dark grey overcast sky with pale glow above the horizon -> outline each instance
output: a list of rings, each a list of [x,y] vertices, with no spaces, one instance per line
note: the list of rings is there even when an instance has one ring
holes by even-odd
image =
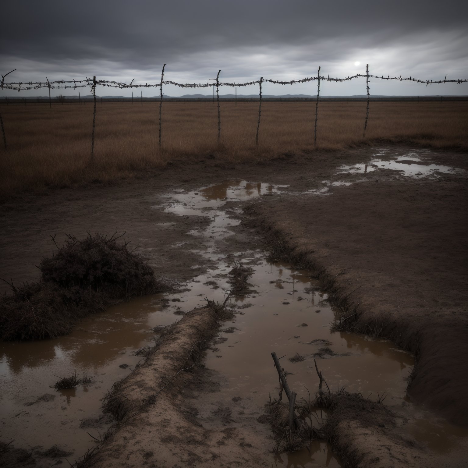
[[[2,74],[17,69],[9,81],[96,75],[155,83],[165,63],[165,80],[206,83],[219,69],[221,81],[296,80],[316,75],[319,66],[324,76],[365,73],[369,63],[375,75],[465,79],[467,5],[461,0],[17,0],[2,5],[0,68]],[[468,95],[468,83],[426,87],[371,80],[370,88],[371,95]],[[80,92],[89,94],[89,88]],[[163,92],[212,91],[165,86]],[[317,83],[264,84],[263,92],[314,95]],[[238,95],[255,93],[258,85],[237,89]],[[97,94],[131,95],[131,90],[98,88]],[[366,81],[322,82],[321,94],[363,95]],[[47,95],[47,89],[20,95]],[[143,89],[143,95],[159,95],[159,89]]]

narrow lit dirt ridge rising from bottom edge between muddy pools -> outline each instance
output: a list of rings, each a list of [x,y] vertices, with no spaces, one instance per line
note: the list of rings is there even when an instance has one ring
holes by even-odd
[[[80,466],[140,467],[155,460],[159,466],[231,467],[240,461],[261,465],[258,448],[241,443],[246,434],[236,437],[231,428],[208,430],[185,404],[190,384],[206,383],[200,358],[219,328],[218,321],[229,316],[226,309],[209,301],[208,307],[185,314],[166,329],[149,348],[146,362],[108,395],[104,409],[113,414],[117,425]]]

